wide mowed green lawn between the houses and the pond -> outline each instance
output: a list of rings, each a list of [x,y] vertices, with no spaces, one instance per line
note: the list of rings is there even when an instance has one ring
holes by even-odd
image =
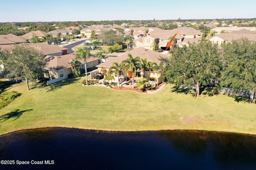
[[[198,129],[256,134],[256,105],[219,94],[194,98],[168,84],[156,94],[82,86],[82,78],[26,90],[0,109],[0,134],[39,127],[108,131]],[[32,85],[30,85],[32,87]]]

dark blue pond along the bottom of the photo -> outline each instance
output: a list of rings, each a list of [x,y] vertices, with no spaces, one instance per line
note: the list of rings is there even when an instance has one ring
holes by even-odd
[[[0,136],[0,160],[0,169],[256,169],[256,136],[31,129]]]

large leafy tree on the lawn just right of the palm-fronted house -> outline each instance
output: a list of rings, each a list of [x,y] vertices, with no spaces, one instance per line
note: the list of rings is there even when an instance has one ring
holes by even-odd
[[[200,97],[199,87],[209,84],[220,73],[220,60],[217,45],[210,41],[200,44],[189,43],[189,46],[174,48],[170,51],[170,59],[160,58],[163,79],[191,86],[196,84],[196,97]]]

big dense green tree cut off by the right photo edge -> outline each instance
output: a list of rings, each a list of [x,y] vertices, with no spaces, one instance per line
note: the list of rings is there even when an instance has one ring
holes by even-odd
[[[222,86],[250,91],[250,103],[256,91],[256,43],[248,39],[223,44]]]

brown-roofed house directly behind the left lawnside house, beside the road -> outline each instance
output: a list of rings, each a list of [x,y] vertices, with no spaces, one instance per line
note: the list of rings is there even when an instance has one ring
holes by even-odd
[[[68,54],[68,49],[64,47],[59,47],[58,45],[50,45],[46,42],[43,43],[32,43],[32,47],[42,51],[44,55],[55,55],[61,56]]]

